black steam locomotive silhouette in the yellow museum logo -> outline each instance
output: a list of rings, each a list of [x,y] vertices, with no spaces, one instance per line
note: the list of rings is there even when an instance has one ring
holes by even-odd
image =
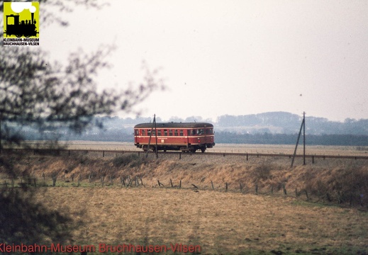
[[[35,26],[36,21],[34,19],[34,13],[30,13],[30,20],[19,21],[21,16],[18,15],[6,15],[6,37],[16,35],[17,38],[25,36],[37,36],[38,31]]]

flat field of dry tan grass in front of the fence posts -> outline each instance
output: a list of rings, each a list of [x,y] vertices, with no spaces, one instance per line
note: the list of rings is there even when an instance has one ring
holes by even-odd
[[[82,220],[72,233],[79,244],[195,244],[203,254],[368,251],[367,212],[290,197],[79,187],[48,188],[37,200]]]

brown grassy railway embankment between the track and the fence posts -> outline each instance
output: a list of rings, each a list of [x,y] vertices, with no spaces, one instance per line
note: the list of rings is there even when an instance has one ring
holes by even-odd
[[[1,185],[193,188],[294,196],[368,208],[364,159],[318,159],[290,167],[286,157],[123,154],[117,157],[2,155]],[[9,175],[10,173],[10,175]],[[9,176],[13,178],[9,179]],[[55,182],[53,182],[54,180]]]

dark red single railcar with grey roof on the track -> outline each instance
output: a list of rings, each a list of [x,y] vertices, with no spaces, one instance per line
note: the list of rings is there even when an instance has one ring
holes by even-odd
[[[157,136],[156,136],[157,135]],[[182,152],[205,152],[215,146],[211,123],[142,123],[134,127],[134,145],[157,151],[181,150]],[[148,144],[150,143],[150,147]]]

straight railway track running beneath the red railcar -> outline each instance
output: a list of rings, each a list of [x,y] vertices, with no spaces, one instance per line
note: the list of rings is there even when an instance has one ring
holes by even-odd
[[[140,150],[116,150],[116,149],[2,149],[1,154],[7,153],[21,153],[26,152],[28,154],[67,154],[68,156],[75,154],[75,153],[101,153],[102,157],[105,157],[107,154],[138,154],[138,155],[145,155],[146,152]],[[149,152],[149,154],[155,154],[155,152]],[[157,157],[160,154],[177,154],[179,158],[182,155],[192,155],[194,157],[199,157],[201,155],[206,156],[241,156],[248,159],[249,157],[289,157],[292,158],[293,154],[284,154],[284,153],[247,153],[247,152],[158,152]],[[303,154],[296,154],[295,157],[304,157]],[[306,154],[306,158],[309,159],[368,159],[368,156],[354,156],[354,155],[322,155],[322,154]]]

